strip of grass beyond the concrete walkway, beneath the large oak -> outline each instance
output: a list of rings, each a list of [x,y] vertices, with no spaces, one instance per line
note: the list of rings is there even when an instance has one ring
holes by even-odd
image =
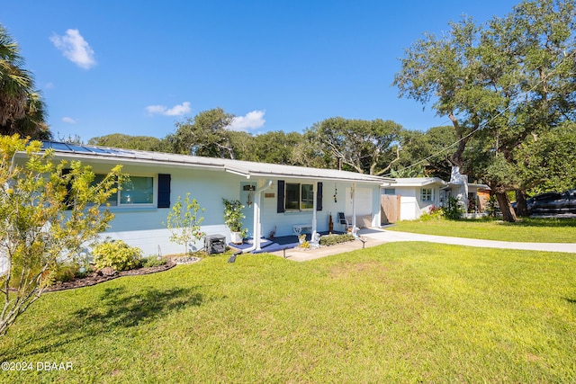
[[[386,229],[425,235],[534,243],[576,243],[576,219],[407,220]]]

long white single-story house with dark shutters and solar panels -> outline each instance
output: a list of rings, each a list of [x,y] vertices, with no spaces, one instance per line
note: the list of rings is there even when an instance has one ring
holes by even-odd
[[[184,199],[186,192],[204,209],[202,232],[225,236],[227,242],[230,231],[224,225],[222,198],[241,201],[244,227],[255,238],[257,249],[258,239],[273,231],[276,237],[293,235],[299,226],[311,232],[328,231],[330,215],[334,230],[344,230],[338,212],[345,212],[355,226],[360,220],[368,227],[381,223],[380,186],[388,180],[383,177],[51,141],[43,144],[54,150],[55,160],[82,161],[92,165],[95,174],[106,174],[113,165],[123,166],[130,184],[110,201],[115,218],[103,237],[139,246],[145,255],[182,252],[182,246],[169,241],[170,232],[162,223],[178,196]],[[16,161],[24,162],[25,154],[17,154]],[[201,249],[203,240],[192,246]]]

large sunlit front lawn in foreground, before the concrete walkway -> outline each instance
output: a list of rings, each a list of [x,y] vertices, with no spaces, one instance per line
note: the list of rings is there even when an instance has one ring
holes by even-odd
[[[570,382],[574,255],[392,243],[294,263],[218,255],[49,293],[3,382]]]

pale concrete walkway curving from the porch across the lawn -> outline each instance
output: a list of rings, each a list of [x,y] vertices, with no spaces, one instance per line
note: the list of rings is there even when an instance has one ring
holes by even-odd
[[[426,241],[429,243],[451,244],[455,246],[478,246],[482,248],[520,249],[527,251],[565,252],[576,254],[576,243],[518,243],[509,241],[479,240],[464,237],[420,235],[377,228],[361,229],[358,234],[363,238],[365,241],[364,243],[360,240],[356,240],[339,244],[338,246],[322,246],[307,251],[293,248],[286,249],[285,251],[274,252],[273,255],[280,255],[296,262],[304,262],[329,255],[351,252],[363,247],[380,246],[395,241]]]

